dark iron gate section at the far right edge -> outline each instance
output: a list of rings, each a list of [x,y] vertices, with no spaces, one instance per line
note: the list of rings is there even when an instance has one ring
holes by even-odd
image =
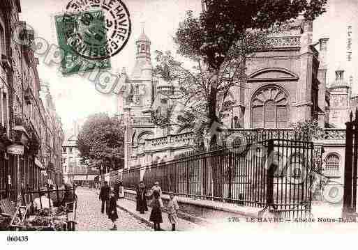
[[[343,217],[357,212],[358,109],[355,120],[351,112],[350,121],[345,125]]]

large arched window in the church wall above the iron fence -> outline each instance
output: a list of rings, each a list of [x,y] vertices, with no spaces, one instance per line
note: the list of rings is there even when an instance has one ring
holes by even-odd
[[[276,86],[264,86],[251,102],[251,127],[288,127],[288,95]]]

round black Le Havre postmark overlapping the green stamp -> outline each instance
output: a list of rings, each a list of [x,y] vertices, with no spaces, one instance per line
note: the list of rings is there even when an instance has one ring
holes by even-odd
[[[103,20],[84,15],[94,9],[103,10]],[[66,12],[78,17],[77,26],[73,33],[68,32],[68,36],[78,42],[80,46],[75,47],[74,51],[83,58],[110,58],[126,46],[131,24],[128,9],[121,0],[71,0]],[[107,33],[106,40],[103,40],[104,33]]]

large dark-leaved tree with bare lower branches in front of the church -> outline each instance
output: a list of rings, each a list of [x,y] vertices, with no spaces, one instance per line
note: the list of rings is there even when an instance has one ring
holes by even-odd
[[[246,61],[271,47],[269,34],[285,29],[302,15],[313,20],[325,12],[327,0],[203,0],[195,17],[188,11],[174,36],[177,53],[195,63],[188,69],[170,52],[158,52],[156,74],[179,84],[172,107],[157,111],[154,120],[163,127],[196,126],[209,132],[220,124],[232,102],[230,88],[244,81]],[[178,110],[178,107],[179,110]],[[173,118],[173,114],[179,116]],[[211,138],[211,136],[210,136]]]

